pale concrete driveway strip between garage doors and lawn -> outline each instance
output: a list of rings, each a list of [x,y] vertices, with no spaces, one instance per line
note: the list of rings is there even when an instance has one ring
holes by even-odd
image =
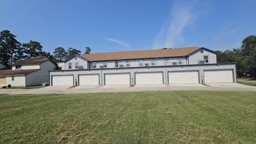
[[[214,91],[256,91],[255,86],[237,83],[218,84],[152,84],[152,85],[110,85],[110,86],[48,86],[39,89],[0,89],[0,94],[77,94],[98,92],[140,92],[168,90],[214,90]]]

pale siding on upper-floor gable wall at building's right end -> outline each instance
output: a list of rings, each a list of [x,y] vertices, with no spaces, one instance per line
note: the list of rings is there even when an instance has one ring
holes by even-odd
[[[198,50],[194,52],[193,54],[190,54],[188,62],[189,64],[198,64],[198,60],[204,60],[204,56],[208,55],[209,56],[209,63],[207,64],[216,64],[217,59],[216,59],[216,54],[213,52],[210,52],[208,50],[203,50],[203,53],[201,53],[201,50]],[[206,64],[206,63],[205,63]]]

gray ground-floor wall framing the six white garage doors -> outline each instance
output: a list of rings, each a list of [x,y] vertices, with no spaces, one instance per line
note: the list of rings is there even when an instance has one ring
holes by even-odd
[[[181,66],[152,66],[152,67],[136,67],[136,68],[108,68],[108,69],[90,69],[90,70],[57,70],[50,72],[50,85],[52,75],[74,75],[74,82],[78,80],[79,74],[99,74],[100,76],[100,85],[104,85],[104,75],[113,74],[113,73],[130,73],[130,84],[135,82],[135,73],[136,72],[163,72],[163,83],[168,84],[168,72],[172,71],[190,71],[196,70],[199,71],[199,81],[200,83],[204,80],[204,70],[224,70],[231,69],[234,74],[234,82],[236,82],[236,65],[233,63],[228,64],[200,64],[200,65],[183,65]],[[75,83],[74,83],[75,85]]]

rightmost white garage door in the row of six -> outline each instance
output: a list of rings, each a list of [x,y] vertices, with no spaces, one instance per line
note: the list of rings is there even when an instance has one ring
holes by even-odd
[[[233,82],[232,70],[206,70],[204,71],[204,83]]]

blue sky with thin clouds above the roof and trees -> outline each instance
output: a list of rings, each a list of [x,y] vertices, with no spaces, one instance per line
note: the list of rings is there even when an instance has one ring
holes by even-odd
[[[0,0],[0,31],[46,52],[206,47],[231,50],[256,34],[256,0]]]

